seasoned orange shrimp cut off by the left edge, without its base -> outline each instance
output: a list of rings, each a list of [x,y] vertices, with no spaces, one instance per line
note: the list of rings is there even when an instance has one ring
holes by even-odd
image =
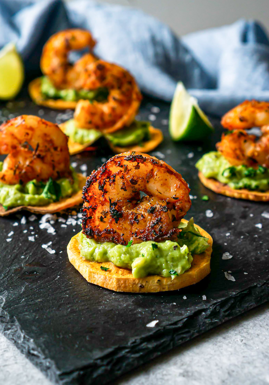
[[[0,126],[0,154],[8,154],[0,172],[4,184],[71,177],[67,137],[37,116],[21,115]]]

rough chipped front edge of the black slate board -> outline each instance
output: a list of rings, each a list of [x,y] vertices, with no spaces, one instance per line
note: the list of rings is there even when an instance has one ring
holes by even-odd
[[[229,298],[218,301],[209,306],[208,309],[199,309],[192,315],[180,320],[176,325],[166,325],[163,329],[156,330],[156,333],[148,337],[138,338],[129,345],[117,348],[109,355],[101,357],[90,365],[68,373],[60,373],[55,364],[38,350],[32,338],[25,335],[20,329],[15,317],[10,319],[8,313],[3,310],[3,304],[0,306],[0,332],[11,340],[20,352],[38,367],[51,382],[65,385],[101,385],[115,380],[195,336],[205,333],[267,301],[269,301],[269,281],[264,281],[259,285],[250,286]],[[244,305],[246,302],[247,305]],[[240,307],[241,303],[243,303],[242,307]],[[220,311],[223,314],[224,310],[227,312],[227,316],[220,319],[218,315]],[[210,323],[205,322],[206,318],[210,318]],[[196,332],[190,331],[191,328],[194,330],[191,327],[193,323],[196,325]],[[199,326],[203,324],[206,326]],[[199,332],[197,332],[198,330]],[[154,352],[154,349],[158,349],[158,351]],[[133,355],[136,357],[133,357]]]

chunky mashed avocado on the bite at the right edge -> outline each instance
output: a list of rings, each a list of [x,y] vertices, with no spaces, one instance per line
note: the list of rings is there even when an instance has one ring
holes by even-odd
[[[269,190],[269,169],[232,166],[224,156],[217,151],[208,152],[196,163],[196,167],[206,178],[217,179],[232,189],[247,189],[255,191]]]

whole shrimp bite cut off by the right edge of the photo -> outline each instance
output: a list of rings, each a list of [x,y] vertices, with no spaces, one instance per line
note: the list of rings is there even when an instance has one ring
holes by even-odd
[[[225,114],[218,151],[197,163],[204,186],[223,195],[269,201],[269,102],[246,100]],[[260,136],[247,133],[260,128]]]

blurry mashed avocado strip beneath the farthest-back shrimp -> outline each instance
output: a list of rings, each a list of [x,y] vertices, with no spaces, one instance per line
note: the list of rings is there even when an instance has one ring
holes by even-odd
[[[108,90],[106,88],[98,88],[91,91],[83,89],[57,89],[46,76],[42,77],[41,93],[44,99],[63,99],[69,102],[75,102],[79,99],[97,100],[98,102],[102,102],[108,97]]]

